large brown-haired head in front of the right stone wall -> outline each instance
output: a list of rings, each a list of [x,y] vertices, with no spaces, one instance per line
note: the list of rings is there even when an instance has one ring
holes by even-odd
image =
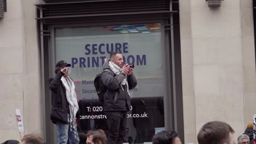
[[[234,144],[234,133],[227,123],[208,122],[200,129],[197,141],[199,144]]]

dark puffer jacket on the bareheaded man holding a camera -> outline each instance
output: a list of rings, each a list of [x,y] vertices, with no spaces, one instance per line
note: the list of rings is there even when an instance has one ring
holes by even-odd
[[[127,86],[123,85],[124,90],[121,87],[121,82],[125,79],[125,75],[122,73],[115,75],[109,68],[109,64],[105,63],[101,79],[107,87],[107,91],[104,94],[104,111],[129,111],[131,109],[131,101]],[[133,74],[127,76],[127,81],[129,89],[137,86],[137,80]]]

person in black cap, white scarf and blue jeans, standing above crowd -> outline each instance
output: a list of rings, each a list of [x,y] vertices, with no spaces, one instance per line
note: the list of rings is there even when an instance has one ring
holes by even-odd
[[[78,111],[77,94],[75,86],[69,75],[69,67],[65,61],[56,64],[55,77],[49,79],[51,91],[51,121],[57,125],[58,144],[78,144],[79,137],[75,115]]]

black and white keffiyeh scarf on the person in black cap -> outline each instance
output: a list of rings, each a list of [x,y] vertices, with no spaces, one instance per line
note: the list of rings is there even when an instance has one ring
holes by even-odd
[[[75,115],[77,115],[77,111],[79,109],[77,103],[77,93],[75,93],[74,82],[70,79],[70,77],[61,77],[61,82],[63,83],[66,89],[66,97],[69,104],[69,113],[70,113],[70,124],[71,127],[75,129]],[[71,128],[72,131],[72,128]]]

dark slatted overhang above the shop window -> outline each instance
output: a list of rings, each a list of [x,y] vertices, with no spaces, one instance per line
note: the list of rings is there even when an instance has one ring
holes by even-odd
[[[72,1],[36,6],[40,9],[36,19],[48,22],[159,19],[170,17],[171,13],[177,12],[170,11],[169,0]]]

